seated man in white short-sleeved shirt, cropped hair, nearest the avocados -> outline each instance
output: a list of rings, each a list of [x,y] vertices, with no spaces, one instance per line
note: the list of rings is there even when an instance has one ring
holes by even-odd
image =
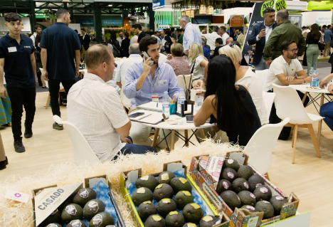
[[[153,147],[132,144],[131,128],[120,96],[106,82],[115,70],[112,49],[94,45],[85,54],[88,73],[68,93],[68,121],[87,139],[101,162],[117,158],[117,154],[157,152]]]

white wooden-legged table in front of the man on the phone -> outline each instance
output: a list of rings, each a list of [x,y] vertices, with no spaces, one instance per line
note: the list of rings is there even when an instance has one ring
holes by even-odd
[[[157,138],[159,137],[159,130],[171,130],[171,132],[169,133],[169,134],[171,134],[171,144],[169,146],[169,149],[173,150],[174,149],[174,136],[175,136],[175,134],[176,134],[177,137],[179,137],[181,139],[184,138],[183,139],[183,141],[185,142],[184,146],[189,147],[189,142],[190,142],[189,140],[191,139],[191,137],[196,136],[196,134],[195,134],[196,130],[200,130],[201,139],[206,139],[206,136],[205,136],[205,133],[203,132],[203,129],[207,128],[207,127],[213,127],[214,126],[213,124],[206,123],[204,125],[196,127],[194,125],[194,123],[187,123],[186,122],[186,117],[179,117],[178,115],[170,115],[169,120],[176,120],[178,122],[178,125],[170,125],[167,122],[161,122],[157,125],[141,123],[142,125],[145,125],[145,126],[148,126],[148,127],[154,127],[156,129],[155,134],[154,134],[154,139],[153,139],[153,142],[152,142],[152,147],[156,147]],[[183,125],[179,125],[179,122],[183,122]],[[177,132],[176,130],[185,130],[185,137],[183,135],[181,135],[179,132]],[[189,137],[189,130],[191,130],[193,132],[190,137]],[[167,135],[164,134],[164,139],[166,139],[166,137],[168,137],[169,134],[167,134]],[[190,143],[193,144],[192,142],[190,142]],[[166,144],[167,144],[167,142],[166,142]]]

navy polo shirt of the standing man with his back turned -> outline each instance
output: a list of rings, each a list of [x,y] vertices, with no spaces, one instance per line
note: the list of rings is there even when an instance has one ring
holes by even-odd
[[[75,80],[75,50],[81,49],[78,33],[65,23],[56,22],[43,31],[40,46],[48,53],[48,79]]]

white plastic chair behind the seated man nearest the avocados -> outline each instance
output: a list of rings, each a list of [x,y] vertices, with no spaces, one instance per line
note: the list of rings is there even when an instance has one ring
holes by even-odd
[[[70,122],[63,121],[58,115],[53,116],[53,120],[58,124],[62,124],[70,136],[70,141],[73,145],[73,158],[75,164],[88,161],[91,164],[101,163],[97,158],[93,149],[91,149],[83,134],[75,125]]]

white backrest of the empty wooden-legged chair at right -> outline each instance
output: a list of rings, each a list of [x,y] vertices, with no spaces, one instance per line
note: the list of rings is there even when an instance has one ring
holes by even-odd
[[[310,124],[312,122],[305,111],[300,96],[294,88],[273,83],[273,90],[276,94],[275,108],[277,117],[280,117],[280,119],[289,117],[290,123],[297,125]]]

